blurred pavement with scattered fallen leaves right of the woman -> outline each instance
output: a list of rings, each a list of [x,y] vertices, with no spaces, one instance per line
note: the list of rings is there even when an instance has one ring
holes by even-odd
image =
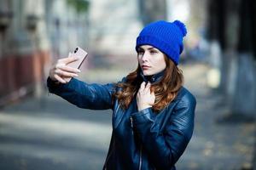
[[[195,133],[179,169],[236,170],[250,169],[253,164],[255,123],[218,123],[229,113],[220,94],[206,86],[207,66],[191,65],[184,68],[187,87],[197,99]]]

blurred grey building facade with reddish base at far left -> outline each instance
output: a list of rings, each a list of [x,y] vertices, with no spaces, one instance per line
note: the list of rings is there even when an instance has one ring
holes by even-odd
[[[86,11],[69,1],[1,0],[0,105],[42,94],[50,59],[84,47],[87,27]]]

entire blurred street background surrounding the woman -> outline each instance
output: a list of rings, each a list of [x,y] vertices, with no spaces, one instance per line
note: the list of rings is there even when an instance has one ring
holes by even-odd
[[[79,79],[117,82],[137,68],[136,37],[182,20],[195,132],[178,170],[256,170],[255,0],[0,0],[0,169],[102,169],[111,111],[49,94],[49,67],[77,46]]]

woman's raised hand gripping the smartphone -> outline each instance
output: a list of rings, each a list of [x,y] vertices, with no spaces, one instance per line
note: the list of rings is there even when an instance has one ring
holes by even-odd
[[[57,62],[51,66],[49,70],[49,78],[52,81],[67,83],[72,77],[78,77],[79,69],[68,66],[78,60],[78,57],[67,57],[65,59],[58,59]]]

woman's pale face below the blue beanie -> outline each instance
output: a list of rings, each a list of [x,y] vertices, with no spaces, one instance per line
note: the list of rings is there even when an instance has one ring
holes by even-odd
[[[152,76],[166,69],[165,54],[150,45],[138,48],[137,60],[144,76]]]

